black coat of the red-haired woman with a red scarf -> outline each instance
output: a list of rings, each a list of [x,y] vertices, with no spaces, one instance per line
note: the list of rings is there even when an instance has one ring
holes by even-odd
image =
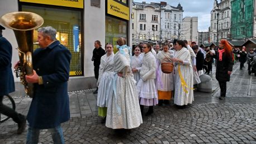
[[[222,53],[222,61],[219,61],[219,52],[214,55],[216,59],[216,79],[221,82],[229,81],[230,75],[227,71],[232,71],[233,69],[233,59],[231,55],[227,55],[225,52]]]

